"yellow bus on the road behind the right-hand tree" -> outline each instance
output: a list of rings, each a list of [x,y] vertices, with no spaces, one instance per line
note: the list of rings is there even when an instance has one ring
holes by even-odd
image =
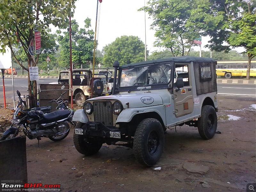
[[[217,61],[217,76],[246,76],[248,61]],[[256,76],[256,61],[251,61],[250,76]]]

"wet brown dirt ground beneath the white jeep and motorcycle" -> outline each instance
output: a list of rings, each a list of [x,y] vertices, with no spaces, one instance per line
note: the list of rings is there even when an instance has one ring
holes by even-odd
[[[218,100],[221,134],[203,140],[196,127],[167,130],[164,153],[153,167],[141,166],[133,150],[121,146],[103,144],[89,157],[78,153],[74,127],[66,139],[43,138],[39,147],[37,140],[27,138],[28,182],[60,184],[65,192],[246,191],[248,183],[256,182],[255,98],[218,96]],[[11,114],[0,106],[0,133]]]

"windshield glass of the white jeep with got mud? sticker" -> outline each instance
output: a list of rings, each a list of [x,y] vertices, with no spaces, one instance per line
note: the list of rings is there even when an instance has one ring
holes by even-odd
[[[122,75],[120,75],[122,74]],[[151,85],[166,85],[171,81],[172,64],[151,64],[148,66],[134,66],[119,71],[119,88],[145,86],[151,88]],[[121,90],[120,90],[121,91]]]

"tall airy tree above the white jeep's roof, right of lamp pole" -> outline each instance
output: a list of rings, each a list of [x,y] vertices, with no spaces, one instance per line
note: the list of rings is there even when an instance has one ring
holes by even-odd
[[[187,55],[193,40],[201,35],[200,29],[187,25],[192,10],[190,0],[150,0],[142,7],[153,18],[152,29],[157,37],[154,46],[164,47],[172,56]]]

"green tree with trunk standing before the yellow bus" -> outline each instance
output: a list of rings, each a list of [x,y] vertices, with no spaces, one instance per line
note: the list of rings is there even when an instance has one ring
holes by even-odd
[[[247,76],[251,60],[256,56],[255,0],[194,0],[189,26],[209,35],[212,51],[228,52],[230,47],[244,47],[248,56]],[[223,45],[227,42],[227,45]]]

